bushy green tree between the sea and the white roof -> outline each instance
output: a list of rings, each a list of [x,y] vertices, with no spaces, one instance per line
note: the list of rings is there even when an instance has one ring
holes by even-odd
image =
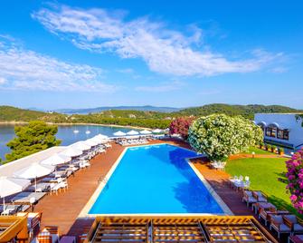
[[[43,121],[30,121],[26,126],[16,126],[16,137],[6,144],[12,151],[5,155],[6,160],[17,160],[59,145],[61,141],[55,137],[57,131],[57,126],[48,125]]]

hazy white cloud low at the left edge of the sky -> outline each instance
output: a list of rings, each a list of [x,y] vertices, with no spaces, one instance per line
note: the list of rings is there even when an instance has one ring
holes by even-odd
[[[65,63],[0,38],[2,89],[113,92],[114,86],[101,82],[102,75],[100,68]]]

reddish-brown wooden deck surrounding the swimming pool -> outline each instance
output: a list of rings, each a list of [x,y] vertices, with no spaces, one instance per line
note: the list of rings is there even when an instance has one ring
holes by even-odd
[[[170,143],[188,148],[188,145],[179,141],[152,141],[151,143]],[[69,189],[58,195],[44,197],[34,208],[34,211],[43,212],[42,227],[56,225],[61,235],[79,236],[85,233],[93,223],[93,219],[77,219],[80,211],[94,191],[99,186],[99,179],[105,177],[112,165],[118,160],[124,147],[112,143],[112,148],[90,161],[88,169],[76,172],[68,179]],[[194,166],[202,173],[234,215],[252,215],[250,209],[241,202],[241,195],[229,188],[226,181],[229,176],[223,171],[210,170],[202,160],[194,160]]]

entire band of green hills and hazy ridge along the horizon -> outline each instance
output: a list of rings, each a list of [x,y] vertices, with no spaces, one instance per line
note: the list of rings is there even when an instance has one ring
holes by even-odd
[[[166,128],[170,121],[180,116],[205,116],[212,113],[241,115],[253,119],[255,113],[303,112],[281,105],[232,105],[213,103],[199,107],[178,109],[155,106],[118,106],[93,109],[63,109],[52,112],[39,112],[12,106],[0,106],[0,121],[28,122],[47,121],[52,123],[94,123],[146,128]]]

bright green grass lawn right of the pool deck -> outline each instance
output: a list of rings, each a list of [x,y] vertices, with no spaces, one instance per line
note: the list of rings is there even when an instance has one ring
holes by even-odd
[[[297,211],[291,206],[289,194],[286,193],[285,160],[287,159],[240,159],[229,160],[226,172],[231,176],[249,176],[251,190],[262,190],[269,200],[278,208]],[[279,181],[278,179],[284,180]],[[300,216],[302,218],[303,216]]]

